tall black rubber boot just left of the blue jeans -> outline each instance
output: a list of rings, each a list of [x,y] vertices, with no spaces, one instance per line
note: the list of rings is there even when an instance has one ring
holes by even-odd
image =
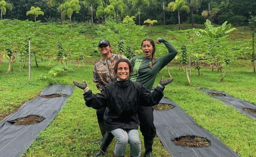
[[[113,138],[114,138],[114,135],[110,131],[107,131],[102,140],[102,143],[100,145],[100,150],[95,155],[93,155],[93,157],[98,157],[98,156],[105,154],[105,152],[106,152],[109,144],[112,142]]]

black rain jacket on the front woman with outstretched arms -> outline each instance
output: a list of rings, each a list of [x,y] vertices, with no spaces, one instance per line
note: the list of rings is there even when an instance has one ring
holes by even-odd
[[[92,94],[89,90],[83,98],[85,105],[93,109],[107,107],[104,113],[107,130],[138,129],[138,107],[159,104],[164,96],[163,90],[156,87],[151,93],[139,82],[115,81],[104,86],[101,93]]]

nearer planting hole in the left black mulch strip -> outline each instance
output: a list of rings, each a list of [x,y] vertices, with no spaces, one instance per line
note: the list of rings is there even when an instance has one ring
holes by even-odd
[[[18,118],[16,120],[8,121],[8,122],[12,123],[13,125],[31,125],[31,124],[41,122],[44,119],[45,118],[41,117],[41,116],[30,115],[30,116],[27,116],[27,117]]]

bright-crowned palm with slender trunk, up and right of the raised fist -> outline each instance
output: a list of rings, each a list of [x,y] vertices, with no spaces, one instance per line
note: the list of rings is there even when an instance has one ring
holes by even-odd
[[[175,2],[170,2],[168,4],[168,8],[171,9],[171,11],[178,11],[179,30],[181,30],[180,11],[182,10],[185,10],[187,12],[190,11],[188,2],[186,0],[175,0]]]

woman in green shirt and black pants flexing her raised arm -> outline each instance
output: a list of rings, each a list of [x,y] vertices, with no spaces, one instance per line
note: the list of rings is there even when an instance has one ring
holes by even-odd
[[[137,56],[131,60],[133,74],[130,80],[142,83],[148,90],[152,90],[158,72],[172,61],[178,53],[176,48],[164,38],[156,39],[156,43],[164,43],[168,49],[168,53],[162,57],[155,58],[155,42],[152,39],[144,39],[141,43],[144,56]],[[138,110],[140,131],[144,136],[144,157],[153,157],[152,145],[156,136],[153,111],[154,109],[152,107],[142,106]]]

